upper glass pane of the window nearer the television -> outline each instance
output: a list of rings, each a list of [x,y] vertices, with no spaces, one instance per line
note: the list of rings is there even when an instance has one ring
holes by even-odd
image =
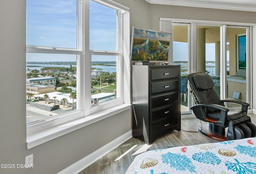
[[[117,10],[90,1],[90,49],[118,51]]]

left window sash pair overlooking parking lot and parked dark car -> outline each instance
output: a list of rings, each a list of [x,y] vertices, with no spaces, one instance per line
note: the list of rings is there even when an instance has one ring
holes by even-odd
[[[79,109],[77,14],[76,0],[27,0],[26,82],[38,88],[27,92],[28,124]]]

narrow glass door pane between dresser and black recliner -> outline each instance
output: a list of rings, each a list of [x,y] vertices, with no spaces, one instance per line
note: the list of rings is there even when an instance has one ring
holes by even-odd
[[[182,113],[188,113],[189,101],[188,97],[188,79],[189,72],[188,62],[190,57],[189,51],[189,37],[190,24],[187,23],[173,23],[173,64],[181,65],[181,111]],[[190,97],[189,97],[190,98]]]

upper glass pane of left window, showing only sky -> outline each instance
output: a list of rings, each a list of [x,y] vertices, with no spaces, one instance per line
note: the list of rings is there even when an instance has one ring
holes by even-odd
[[[27,45],[77,48],[76,0],[27,0]]]

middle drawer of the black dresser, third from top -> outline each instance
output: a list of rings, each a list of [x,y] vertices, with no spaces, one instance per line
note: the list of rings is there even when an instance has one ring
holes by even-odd
[[[160,106],[166,106],[174,102],[178,102],[180,99],[180,93],[169,92],[166,94],[158,94],[155,96],[150,96],[150,109],[158,108]]]

